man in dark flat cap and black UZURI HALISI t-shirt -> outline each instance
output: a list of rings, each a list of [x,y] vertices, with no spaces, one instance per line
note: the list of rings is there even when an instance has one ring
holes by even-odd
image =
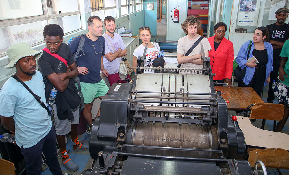
[[[267,29],[270,33],[270,43],[273,46],[273,71],[270,74],[270,83],[267,103],[273,103],[275,98],[272,83],[273,80],[277,82],[279,65],[281,57],[279,56],[283,47],[284,42],[289,38],[289,25],[285,23],[286,18],[288,17],[289,10],[288,8],[279,8],[275,14],[277,22],[267,25]]]

